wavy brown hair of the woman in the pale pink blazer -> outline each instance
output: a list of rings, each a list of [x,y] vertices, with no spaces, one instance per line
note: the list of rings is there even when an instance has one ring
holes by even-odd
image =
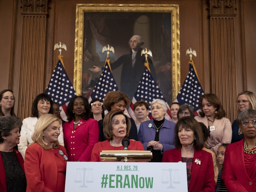
[[[220,99],[217,97],[217,95],[213,94],[213,93],[207,93],[207,94],[203,94],[200,99],[199,99],[199,108],[201,109],[201,111],[199,112],[199,115],[201,115],[201,117],[204,117],[204,111],[203,111],[203,107],[202,107],[202,102],[203,99],[205,99],[206,101],[208,101],[211,105],[213,105],[214,107],[216,107],[216,115],[215,118],[217,119],[221,119],[223,117],[226,116],[226,112],[224,111],[222,105],[221,105],[221,101]]]

